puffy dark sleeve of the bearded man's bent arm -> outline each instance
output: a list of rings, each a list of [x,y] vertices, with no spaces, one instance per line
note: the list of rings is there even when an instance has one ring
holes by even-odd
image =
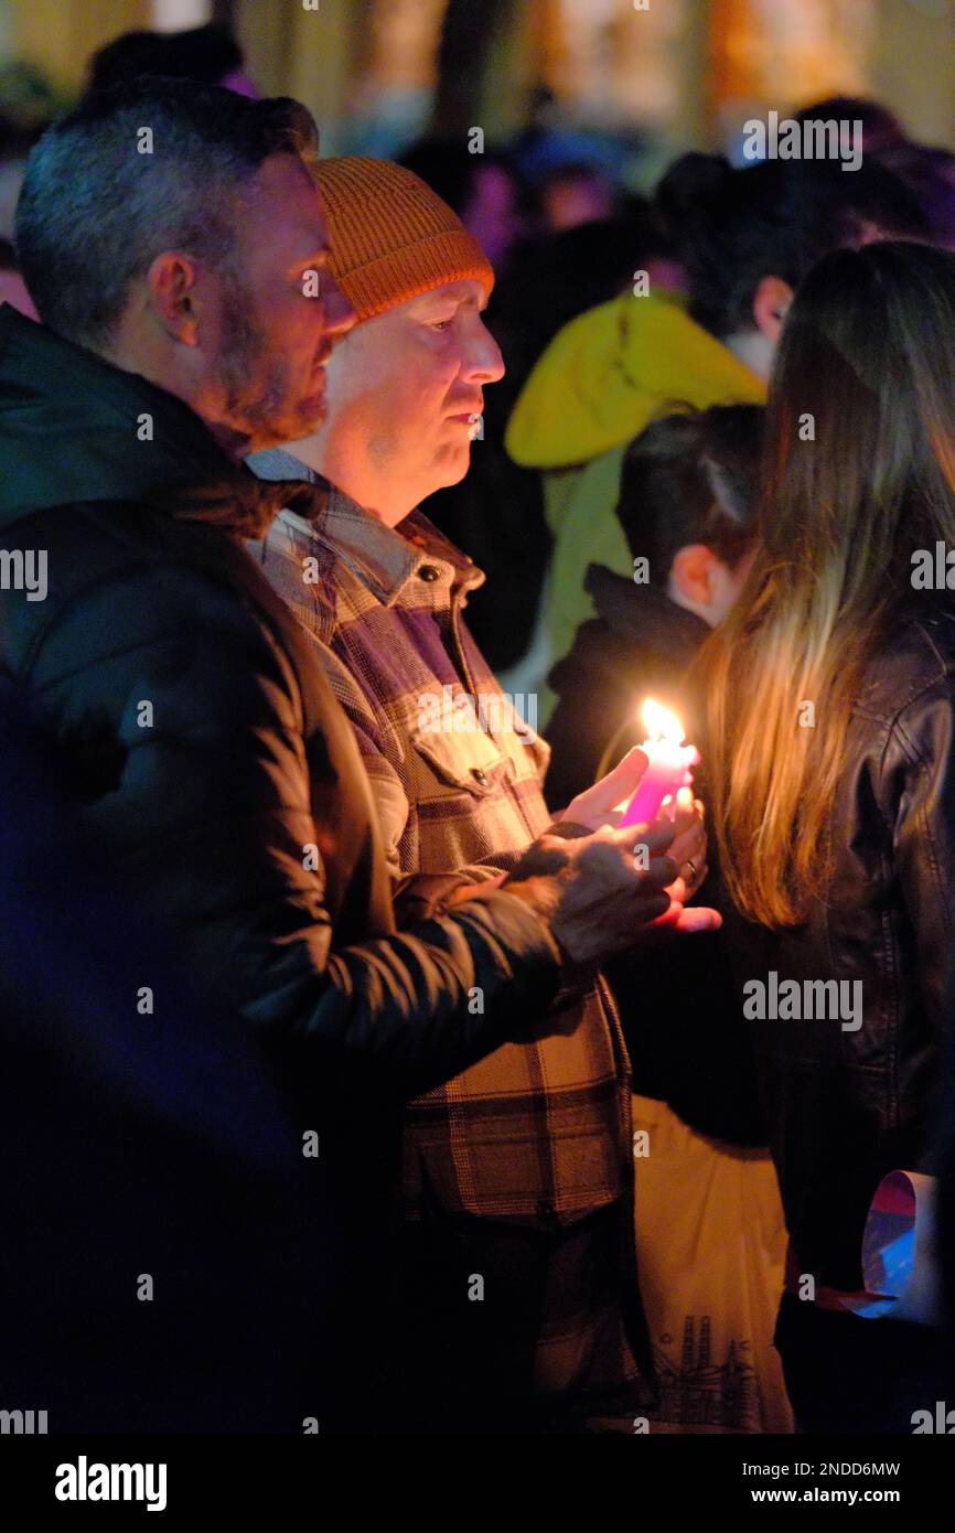
[[[144,909],[271,1039],[415,1095],[547,1007],[558,949],[512,894],[340,946],[297,685],[228,587],[182,566],[110,573],[60,604],[20,670]]]

